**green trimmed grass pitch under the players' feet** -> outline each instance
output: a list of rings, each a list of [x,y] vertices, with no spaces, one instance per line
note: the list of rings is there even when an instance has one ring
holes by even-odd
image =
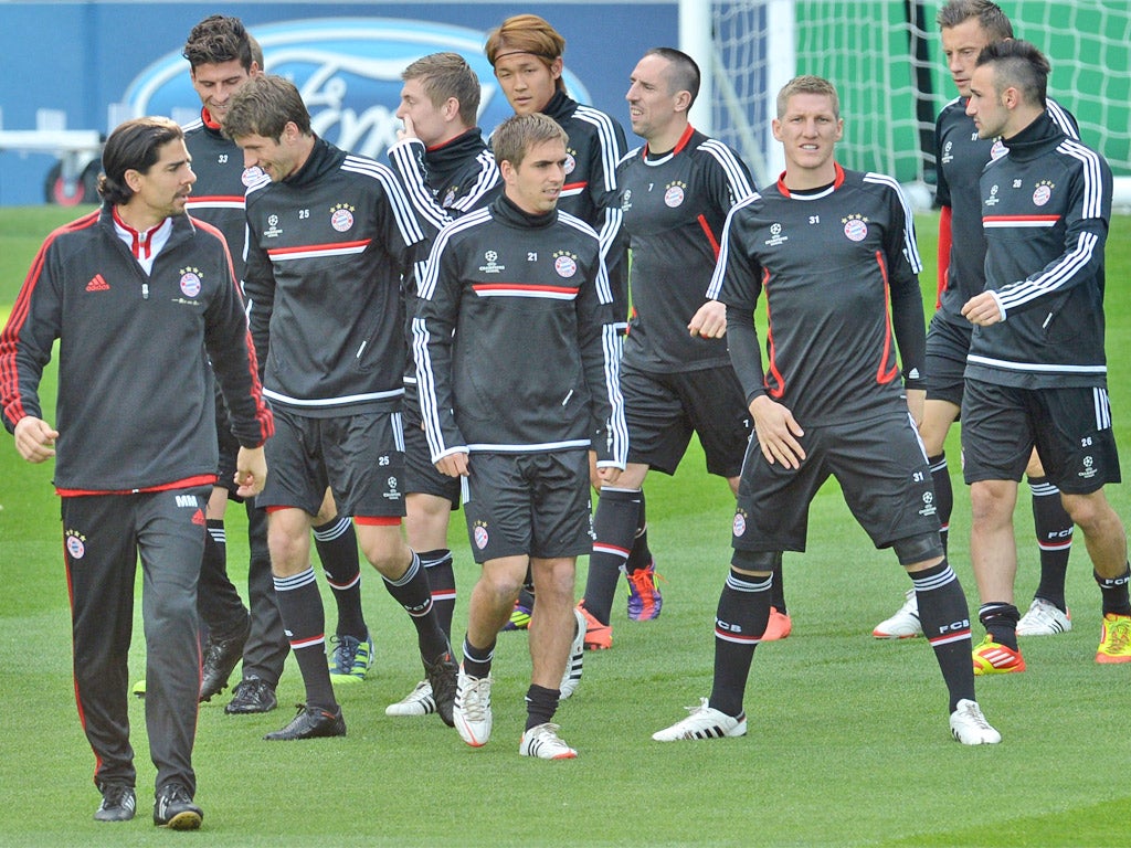
[[[75,210],[0,209],[0,312],[15,300],[46,232]],[[935,218],[918,220],[924,257]],[[1108,353],[1117,436],[1129,466],[1131,219],[1108,241]],[[924,291],[933,292],[933,262]],[[931,301],[933,303],[933,300]],[[50,408],[50,407],[49,407]],[[952,562],[969,592],[969,502],[957,431]],[[0,845],[156,845],[149,823],[153,765],[144,706],[131,701],[139,814],[128,824],[92,820],[94,761],[77,720],[70,675],[67,586],[50,468],[0,444]],[[1126,732],[1131,666],[1093,661],[1098,592],[1082,544],[1069,570],[1076,629],[1030,639],[1029,670],[979,681],[978,700],[1001,745],[967,749],[947,729],[946,691],[922,639],[869,635],[901,600],[907,579],[874,551],[839,492],[812,509],[810,551],[786,557],[789,639],[759,648],[746,696],[750,735],[703,743],[653,743],[710,687],[711,626],[728,562],[732,500],[703,473],[693,448],[674,478],[647,484],[650,542],[663,583],[663,616],[634,624],[614,607],[614,648],[586,656],[585,680],[559,718],[580,751],[573,762],[517,755],[529,661],[526,635],[501,634],[495,729],[475,751],[439,719],[394,719],[385,706],[421,678],[412,629],[366,570],[364,605],[379,650],[374,675],[339,694],[345,739],[267,744],[262,734],[302,699],[293,661],[267,716],[223,713],[227,693],[200,711],[195,762],[205,810],[200,838],[232,846],[1113,846],[1126,841],[1131,789],[1117,777],[1131,759]],[[1131,519],[1124,487],[1110,495]],[[1018,509],[1018,599],[1036,585],[1028,496]],[[230,562],[245,585],[242,514],[230,511]],[[463,633],[477,568],[461,517],[452,522]],[[584,562],[579,569],[584,586]],[[333,602],[327,596],[328,626]],[[975,628],[981,634],[981,628]],[[143,675],[140,618],[131,668]],[[193,839],[193,837],[183,837]]]

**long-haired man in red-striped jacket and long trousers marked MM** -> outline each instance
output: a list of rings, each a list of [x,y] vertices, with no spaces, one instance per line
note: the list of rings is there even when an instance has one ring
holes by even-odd
[[[57,458],[75,695],[102,793],[94,817],[128,821],[137,807],[127,699],[140,555],[153,820],[195,830],[197,580],[217,467],[209,371],[240,442],[240,496],[262,488],[273,416],[227,245],[184,214],[196,175],[181,128],[127,121],[102,167],[101,210],[44,242],[0,334],[0,408],[24,459]],[[38,387],[55,339],[52,427]]]

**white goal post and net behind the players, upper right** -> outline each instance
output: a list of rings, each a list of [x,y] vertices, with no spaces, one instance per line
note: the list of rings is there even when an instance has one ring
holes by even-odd
[[[940,0],[739,0],[694,2],[709,27],[710,118],[700,123],[739,149],[758,184],[777,178],[774,98],[797,73],[827,77],[840,95],[845,138],[838,159],[933,198],[934,118],[956,95],[939,43]],[[1000,0],[1018,37],[1053,67],[1050,96],[1080,122],[1085,142],[1116,175],[1116,202],[1131,206],[1131,2]],[[685,14],[683,29],[693,16]],[[706,42],[703,42],[706,47]]]

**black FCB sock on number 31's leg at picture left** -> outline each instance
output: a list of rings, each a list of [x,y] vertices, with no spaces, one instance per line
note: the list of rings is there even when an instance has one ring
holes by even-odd
[[[774,577],[751,577],[731,569],[715,614],[715,681],[708,703],[727,716],[742,715],[742,699],[754,648],[770,620]]]

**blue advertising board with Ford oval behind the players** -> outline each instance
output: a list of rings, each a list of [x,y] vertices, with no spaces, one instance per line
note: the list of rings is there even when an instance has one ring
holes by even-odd
[[[40,129],[41,110],[50,110],[67,130],[102,133],[133,114],[181,122],[196,116],[199,99],[181,49],[193,24],[217,11],[242,18],[264,49],[267,70],[294,80],[316,131],[370,156],[380,156],[395,140],[400,71],[426,53],[452,50],[466,57],[483,86],[480,123],[485,129],[510,114],[483,55],[486,33],[509,15],[533,11],[551,21],[566,37],[571,95],[625,127],[623,97],[637,59],[649,47],[677,44],[675,2],[519,8],[276,0],[230,2],[219,10],[200,2],[5,2],[0,79],[9,84],[0,95],[0,204],[43,202],[59,173],[60,152],[3,142],[6,135],[20,135],[6,131]]]

